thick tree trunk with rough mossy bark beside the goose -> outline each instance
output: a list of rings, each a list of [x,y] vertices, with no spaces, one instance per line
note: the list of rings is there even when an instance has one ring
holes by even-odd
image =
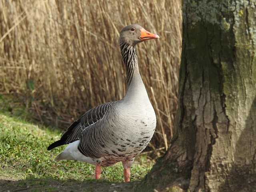
[[[256,2],[184,0],[176,132],[138,191],[256,191]]]

